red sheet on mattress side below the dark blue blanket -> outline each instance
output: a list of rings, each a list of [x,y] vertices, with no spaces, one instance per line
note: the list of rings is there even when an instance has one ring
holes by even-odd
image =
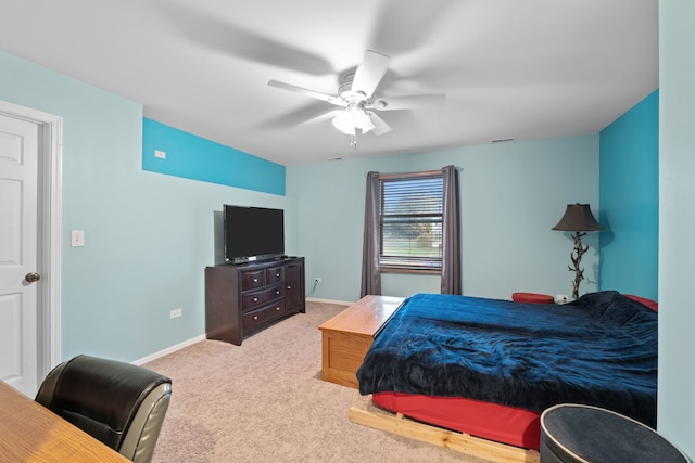
[[[372,402],[413,420],[516,447],[539,450],[540,413],[464,397],[377,393]]]

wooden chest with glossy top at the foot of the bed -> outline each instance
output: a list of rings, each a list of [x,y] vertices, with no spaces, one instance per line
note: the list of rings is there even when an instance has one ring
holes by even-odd
[[[321,324],[321,380],[356,388],[355,373],[375,333],[401,303],[402,297],[365,296]]]

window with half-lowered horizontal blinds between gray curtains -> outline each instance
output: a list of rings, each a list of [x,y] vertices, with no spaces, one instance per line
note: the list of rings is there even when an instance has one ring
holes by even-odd
[[[442,171],[380,176],[381,271],[441,273]]]

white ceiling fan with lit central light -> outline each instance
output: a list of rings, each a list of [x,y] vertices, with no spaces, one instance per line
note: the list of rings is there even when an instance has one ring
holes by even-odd
[[[340,77],[336,95],[277,80],[268,81],[268,86],[301,93],[340,106],[341,110],[329,111],[307,121],[332,119],[333,126],[341,132],[351,136],[351,144],[356,146],[357,133],[372,132],[380,136],[391,131],[391,126],[377,112],[412,110],[444,103],[445,93],[403,97],[376,95],[375,91],[389,69],[390,61],[391,57],[386,54],[367,50],[363,62],[355,70],[345,73]]]

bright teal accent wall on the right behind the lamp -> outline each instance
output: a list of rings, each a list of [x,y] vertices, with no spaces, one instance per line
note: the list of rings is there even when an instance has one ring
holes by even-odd
[[[658,300],[659,92],[599,136],[599,290]]]

